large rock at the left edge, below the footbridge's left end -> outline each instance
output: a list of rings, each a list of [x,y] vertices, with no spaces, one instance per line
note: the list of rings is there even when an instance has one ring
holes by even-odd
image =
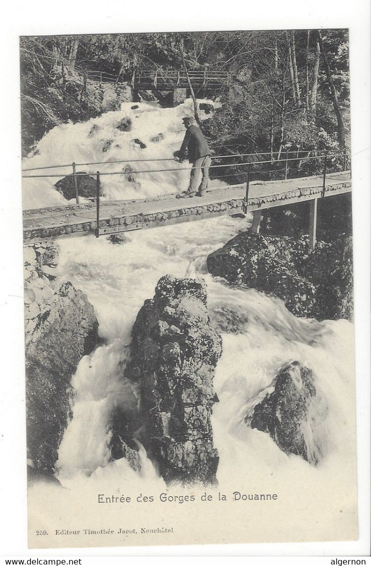
[[[33,468],[47,474],[54,471],[70,417],[71,377],[98,340],[86,295],[70,282],[50,281],[42,271],[42,258],[56,261],[51,248],[41,253],[39,245],[35,253],[28,247],[24,254],[27,445]]]

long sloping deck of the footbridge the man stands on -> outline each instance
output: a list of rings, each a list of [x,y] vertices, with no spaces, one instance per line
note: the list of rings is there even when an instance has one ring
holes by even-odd
[[[287,206],[321,198],[321,175],[286,181],[250,183],[248,211]],[[349,171],[326,177],[325,196],[351,192]],[[153,199],[116,200],[100,203],[99,234],[157,228],[169,224],[232,215],[242,210],[245,185],[211,188],[204,196],[177,199],[176,194]],[[95,233],[96,204],[66,205],[23,212],[24,243],[71,238]]]

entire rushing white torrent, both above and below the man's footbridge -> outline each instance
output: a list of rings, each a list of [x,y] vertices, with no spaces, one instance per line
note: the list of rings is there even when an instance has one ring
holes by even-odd
[[[110,160],[172,155],[184,135],[181,117],[187,108],[189,112],[189,102],[174,109],[142,103],[139,109],[131,110],[131,106],[134,104],[126,103],[119,112],[54,128],[38,144],[40,154],[25,160],[24,167],[101,160],[107,155],[102,148],[109,139],[114,140]],[[116,125],[127,115],[135,127],[120,132]],[[93,125],[98,128],[91,133]],[[164,134],[163,140],[150,141],[159,133]],[[147,148],[140,149],[134,138],[146,143]],[[174,162],[159,163],[161,168],[174,167]],[[143,164],[135,166],[144,168]],[[105,170],[109,168],[113,170],[114,165]],[[93,171],[95,167],[84,170]],[[103,185],[105,195],[138,198],[174,192],[186,187],[189,173],[145,175],[131,185],[118,177],[108,178]],[[42,183],[28,180],[24,200],[26,208],[64,201],[48,179]],[[134,410],[138,401],[137,392],[122,377],[131,328],[143,301],[153,297],[157,281],[166,273],[206,280],[211,322],[223,337],[223,354],[214,381],[219,403],[212,419],[220,456],[219,482],[247,477],[252,486],[258,480],[262,485],[262,478],[271,480],[273,474],[275,481],[282,477],[290,481],[300,474],[303,481],[311,482],[318,477],[333,477],[340,464],[343,469],[353,469],[352,324],[346,320],[319,323],[298,319],[279,299],[255,290],[230,289],[207,272],[207,255],[249,225],[249,218],[223,217],[128,232],[120,245],[93,236],[59,242],[59,276],[87,294],[105,341],[82,359],[73,378],[73,418],[59,449],[58,479],[63,486],[132,486],[149,480],[163,486],[143,447],[139,446],[142,470],[136,473],[125,460],[110,462],[108,446],[113,408]],[[313,445],[312,451],[325,453],[316,468],[298,456],[283,453],[270,436],[245,422],[251,403],[270,387],[280,368],[295,360],[313,371],[318,395],[329,408],[326,416],[321,412],[313,415],[312,431],[320,431],[316,436],[321,445]]]

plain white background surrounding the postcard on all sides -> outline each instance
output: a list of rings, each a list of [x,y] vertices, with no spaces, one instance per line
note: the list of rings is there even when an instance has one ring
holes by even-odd
[[[370,514],[370,2],[258,0],[7,0],[1,29],[0,199],[0,556],[369,556]],[[19,36],[64,33],[349,28],[357,451],[360,539],[357,542],[246,544],[31,551],[27,548],[23,261],[20,188]],[[346,486],[344,486],[346,489]],[[289,509],[287,510],[289,513]],[[305,517],[303,517],[305,521]],[[2,559],[3,560],[3,559]],[[103,564],[107,558],[83,560]],[[125,560],[125,559],[124,559]],[[127,560],[127,559],[126,559]],[[254,559],[266,563],[271,559]],[[292,560],[274,561],[289,563]],[[318,559],[310,559],[314,561]],[[161,560],[162,561],[162,560]],[[250,563],[252,559],[249,559]],[[321,560],[330,564],[330,559]],[[122,560],[121,560],[122,562]],[[304,559],[300,560],[301,563]],[[297,560],[295,561],[297,563]]]

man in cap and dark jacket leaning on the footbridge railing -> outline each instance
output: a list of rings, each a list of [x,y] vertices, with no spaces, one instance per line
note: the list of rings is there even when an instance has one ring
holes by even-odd
[[[211,165],[210,148],[197,122],[194,118],[183,118],[184,126],[187,128],[183,143],[179,151],[174,152],[176,161],[180,163],[185,159],[186,150],[188,150],[188,160],[192,164],[189,186],[187,191],[178,195],[179,198],[186,196],[202,196],[208,186],[208,168]],[[202,181],[197,187],[201,169]]]

